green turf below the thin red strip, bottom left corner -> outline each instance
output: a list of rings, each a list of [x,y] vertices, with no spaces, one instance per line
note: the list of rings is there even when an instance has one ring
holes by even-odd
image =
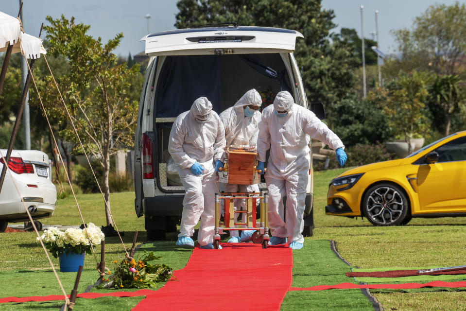
[[[76,298],[73,311],[107,311],[107,310],[131,310],[144,296],[138,297],[100,297],[95,299]],[[25,303],[3,303],[1,311],[23,310],[60,310],[64,301],[31,301]],[[109,308],[111,306],[111,308]]]

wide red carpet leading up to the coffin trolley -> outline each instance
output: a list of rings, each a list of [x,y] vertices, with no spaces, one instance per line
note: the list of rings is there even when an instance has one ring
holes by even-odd
[[[292,281],[292,250],[283,245],[222,243],[195,248],[184,269],[133,308],[145,310],[280,310]],[[239,249],[241,248],[241,249]]]

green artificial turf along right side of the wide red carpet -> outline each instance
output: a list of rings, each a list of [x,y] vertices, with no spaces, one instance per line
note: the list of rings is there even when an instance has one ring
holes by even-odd
[[[348,266],[331,249],[328,240],[306,239],[304,247],[293,251],[292,287],[311,287],[349,282]],[[377,309],[360,289],[290,291],[280,310],[371,310]]]

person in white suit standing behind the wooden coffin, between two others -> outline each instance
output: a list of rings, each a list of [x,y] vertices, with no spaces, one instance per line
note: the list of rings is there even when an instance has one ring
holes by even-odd
[[[255,89],[244,93],[238,102],[229,107],[220,114],[220,119],[224,124],[226,145],[248,145],[249,147],[257,146],[259,134],[259,122],[261,113],[259,111],[262,104],[262,98]],[[225,192],[259,192],[258,185],[236,185],[220,183],[219,188]],[[234,202],[235,210],[245,209],[245,200],[237,199]],[[244,216],[243,223],[244,223]],[[238,213],[235,213],[235,218]],[[230,230],[230,243],[250,241],[255,230],[242,230],[241,239],[238,230]]]

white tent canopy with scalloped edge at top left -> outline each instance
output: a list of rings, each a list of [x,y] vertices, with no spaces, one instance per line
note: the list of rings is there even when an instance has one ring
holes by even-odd
[[[40,38],[21,31],[17,17],[0,12],[0,52],[5,52],[8,45],[13,45],[12,53],[21,52],[27,58],[39,58],[41,53],[47,53]]]

